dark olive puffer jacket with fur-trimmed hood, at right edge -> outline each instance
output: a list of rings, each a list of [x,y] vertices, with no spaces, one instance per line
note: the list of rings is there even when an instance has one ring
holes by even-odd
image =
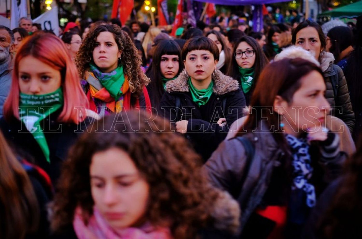
[[[349,97],[347,81],[344,77],[342,69],[337,65],[333,65],[333,62],[333,54],[324,52],[323,57],[320,60],[320,67],[323,71],[326,85],[325,98],[331,107],[338,107],[335,109],[332,108],[332,115],[343,120],[352,133],[355,124],[355,118],[351,99]],[[336,86],[333,86],[333,81],[338,82]]]

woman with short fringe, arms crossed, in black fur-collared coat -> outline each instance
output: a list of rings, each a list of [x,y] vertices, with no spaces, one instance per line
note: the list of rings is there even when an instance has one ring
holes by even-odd
[[[186,134],[206,161],[230,125],[243,116],[245,97],[239,83],[216,69],[219,49],[207,37],[193,37],[182,48],[185,70],[166,84],[160,113]]]

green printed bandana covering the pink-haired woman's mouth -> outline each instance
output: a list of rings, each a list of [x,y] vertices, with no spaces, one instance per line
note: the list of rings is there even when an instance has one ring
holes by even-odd
[[[62,87],[45,95],[27,95],[20,93],[19,116],[26,129],[42,149],[46,160],[50,163],[50,152],[40,122],[63,106]]]

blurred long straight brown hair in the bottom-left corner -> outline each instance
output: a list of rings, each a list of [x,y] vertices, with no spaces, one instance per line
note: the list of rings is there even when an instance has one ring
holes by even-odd
[[[0,238],[36,232],[39,206],[29,177],[0,132]]]

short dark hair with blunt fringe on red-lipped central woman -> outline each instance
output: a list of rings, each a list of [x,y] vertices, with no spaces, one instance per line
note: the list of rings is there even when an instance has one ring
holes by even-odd
[[[216,46],[215,42],[207,37],[193,37],[185,42],[184,47],[182,48],[182,60],[186,60],[186,55],[193,50],[206,50],[210,51],[214,56],[214,60],[219,61],[219,48]]]

